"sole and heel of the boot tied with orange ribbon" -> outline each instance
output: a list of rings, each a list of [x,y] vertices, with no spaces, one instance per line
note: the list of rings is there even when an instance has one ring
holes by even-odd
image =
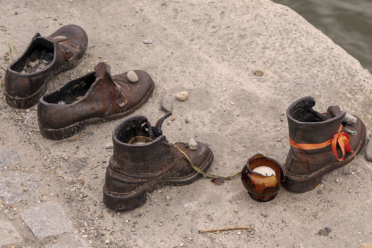
[[[366,139],[366,128],[364,126],[364,123],[363,123],[362,130],[363,130],[362,136],[361,136],[362,139],[360,139],[359,145],[356,148],[355,155],[359,154],[364,144],[364,141]],[[344,158],[343,161],[339,162],[337,160],[333,162],[332,164],[329,164],[326,167],[322,168],[321,170],[318,170],[310,175],[292,174],[287,170],[286,164],[284,164],[283,168],[286,173],[286,178],[285,178],[283,186],[285,187],[286,190],[289,190],[295,193],[304,193],[306,191],[313,190],[322,182],[323,176],[325,174],[327,174],[330,171],[336,170],[340,167],[343,167],[344,165],[353,161],[353,159],[354,159],[354,154],[350,154],[349,156]]]

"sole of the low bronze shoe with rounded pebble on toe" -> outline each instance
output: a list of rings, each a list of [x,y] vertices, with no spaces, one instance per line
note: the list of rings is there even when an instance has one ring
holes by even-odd
[[[55,139],[64,139],[64,138],[68,138],[70,136],[73,136],[77,132],[80,132],[80,131],[86,129],[86,126],[88,124],[93,124],[93,123],[97,123],[97,122],[106,122],[106,121],[109,121],[109,120],[115,120],[115,119],[119,119],[121,117],[130,115],[135,110],[137,110],[139,107],[141,107],[142,104],[144,104],[150,98],[150,96],[153,94],[154,88],[155,88],[155,83],[153,83],[153,86],[151,87],[151,90],[144,97],[144,99],[140,103],[138,103],[136,106],[134,106],[132,109],[129,109],[126,112],[118,113],[118,114],[115,114],[115,115],[109,115],[109,116],[105,116],[105,117],[90,118],[90,119],[87,119],[87,120],[76,122],[76,123],[74,123],[70,126],[67,126],[65,128],[60,128],[60,129],[43,128],[39,123],[40,133],[41,133],[42,136],[44,136],[45,138],[48,138],[48,139],[54,139],[54,140]]]

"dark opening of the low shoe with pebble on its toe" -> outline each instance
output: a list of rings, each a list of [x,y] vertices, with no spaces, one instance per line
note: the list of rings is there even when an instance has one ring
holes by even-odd
[[[96,81],[94,73],[89,73],[81,78],[70,81],[60,89],[43,97],[47,103],[71,104],[75,103],[87,93],[92,84]]]

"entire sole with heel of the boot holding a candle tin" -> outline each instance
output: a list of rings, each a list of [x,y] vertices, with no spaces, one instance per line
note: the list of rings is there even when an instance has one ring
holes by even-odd
[[[209,147],[208,147],[209,148]],[[212,149],[209,148],[209,156],[205,163],[199,167],[201,170],[206,171],[209,167],[211,167],[214,155]],[[191,165],[190,165],[191,166]],[[198,178],[200,178],[202,174],[195,171],[191,175],[185,178],[165,178],[162,180],[156,181],[151,187],[147,189],[134,191],[131,194],[120,194],[111,192],[106,189],[106,186],[103,186],[103,203],[110,208],[118,211],[128,211],[135,209],[137,207],[142,206],[146,203],[147,196],[146,193],[149,193],[153,190],[156,190],[162,186],[182,186],[186,184],[191,184]]]

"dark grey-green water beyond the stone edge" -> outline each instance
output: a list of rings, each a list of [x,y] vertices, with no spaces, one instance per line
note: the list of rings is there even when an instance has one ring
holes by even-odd
[[[372,73],[372,0],[272,0],[295,10]]]

